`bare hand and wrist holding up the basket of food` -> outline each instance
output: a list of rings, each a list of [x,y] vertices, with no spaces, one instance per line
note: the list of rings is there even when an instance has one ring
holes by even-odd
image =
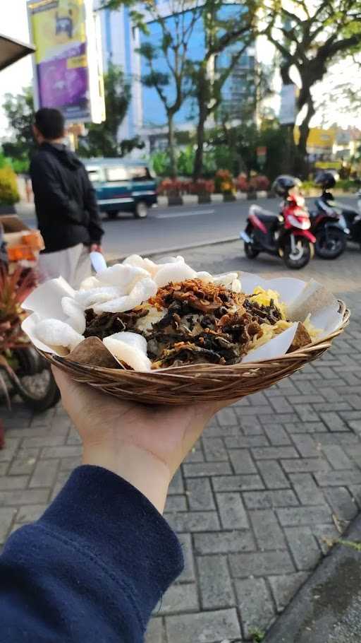
[[[53,367],[63,406],[83,444],[83,464],[125,478],[163,512],[178,466],[224,402],[146,406],[78,384]]]

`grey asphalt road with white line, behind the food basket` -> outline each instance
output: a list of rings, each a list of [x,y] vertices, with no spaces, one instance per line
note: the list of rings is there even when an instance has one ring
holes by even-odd
[[[340,200],[356,204],[356,197]],[[311,206],[313,199],[307,201]],[[133,253],[146,255],[237,239],[245,225],[250,203],[245,200],[154,208],[143,220],[127,214],[115,221],[104,218],[104,250],[109,259],[116,259]],[[279,199],[258,199],[257,204],[276,212]],[[29,216],[29,210],[27,212],[23,220],[35,227],[35,217]]]

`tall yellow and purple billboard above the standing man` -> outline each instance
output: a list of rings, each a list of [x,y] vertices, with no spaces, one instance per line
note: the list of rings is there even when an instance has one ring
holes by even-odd
[[[35,105],[68,122],[102,122],[102,53],[92,0],[28,0],[35,44]]]

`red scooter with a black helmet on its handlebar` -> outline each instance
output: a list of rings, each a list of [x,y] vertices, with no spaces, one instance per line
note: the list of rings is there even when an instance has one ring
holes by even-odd
[[[310,232],[310,215],[305,199],[299,194],[300,185],[300,179],[295,177],[276,178],[272,189],[283,199],[279,214],[250,206],[246,228],[240,232],[248,259],[267,252],[281,256],[293,270],[303,268],[312,259],[316,239]]]

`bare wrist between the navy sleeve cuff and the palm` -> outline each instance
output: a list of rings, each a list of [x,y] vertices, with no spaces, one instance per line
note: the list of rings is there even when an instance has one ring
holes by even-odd
[[[82,464],[102,466],[133,485],[162,514],[171,481],[168,466],[135,444],[84,444]]]

